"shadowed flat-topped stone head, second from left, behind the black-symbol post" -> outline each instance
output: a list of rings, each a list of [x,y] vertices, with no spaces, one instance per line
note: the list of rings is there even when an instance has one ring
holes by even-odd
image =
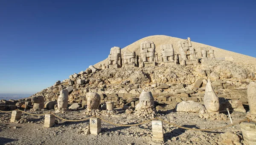
[[[87,93],[87,111],[99,109],[100,96],[95,92]]]

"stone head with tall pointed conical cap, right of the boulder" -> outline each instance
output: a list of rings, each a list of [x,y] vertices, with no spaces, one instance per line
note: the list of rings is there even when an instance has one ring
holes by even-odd
[[[218,112],[220,109],[218,97],[212,88],[210,80],[206,84],[204,106],[208,112]]]

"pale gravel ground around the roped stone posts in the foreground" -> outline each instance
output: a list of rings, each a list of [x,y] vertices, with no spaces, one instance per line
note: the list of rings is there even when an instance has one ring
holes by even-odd
[[[33,113],[46,113],[40,111]],[[78,120],[88,116],[83,115],[84,110],[79,112],[65,112],[57,114],[63,118]],[[206,120],[193,115],[195,113],[173,112],[173,110],[158,111],[160,118],[183,125],[189,128],[215,128],[230,124],[230,120]],[[233,122],[243,120],[244,113],[231,113]],[[102,131],[99,135],[81,134],[81,130],[89,125],[89,121],[65,122],[60,119],[52,128],[44,127],[44,116],[25,115],[29,123],[10,123],[11,113],[0,113],[0,145],[217,145],[220,142],[220,134],[226,131],[235,132],[241,138],[239,125],[234,128],[224,128],[216,131],[192,131],[177,128],[163,123],[164,142],[154,141],[151,136],[151,122],[132,127],[120,127],[110,125],[102,121]],[[111,116],[102,116],[105,120],[119,124],[141,123],[147,119],[137,118],[134,114],[119,113]],[[80,131],[80,132],[79,132]],[[242,138],[241,138],[242,139]],[[242,140],[241,140],[242,142]]]

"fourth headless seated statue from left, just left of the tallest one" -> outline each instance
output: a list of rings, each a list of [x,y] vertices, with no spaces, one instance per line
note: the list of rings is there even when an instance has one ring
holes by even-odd
[[[169,65],[169,64],[177,64],[177,56],[174,52],[172,44],[160,45],[161,55],[160,61],[161,64]]]

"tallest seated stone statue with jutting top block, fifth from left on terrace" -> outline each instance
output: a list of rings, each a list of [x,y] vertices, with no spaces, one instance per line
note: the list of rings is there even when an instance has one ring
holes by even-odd
[[[179,54],[179,61],[180,64],[198,64],[198,55],[195,51],[195,48],[192,47],[191,40],[183,39],[182,41],[178,42],[180,54]]]

